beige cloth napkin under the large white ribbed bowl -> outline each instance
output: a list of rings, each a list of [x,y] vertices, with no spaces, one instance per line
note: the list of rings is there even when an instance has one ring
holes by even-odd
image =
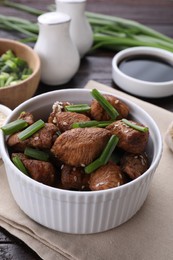
[[[124,96],[144,108],[162,135],[173,114],[120,91],[90,81],[97,88]],[[170,260],[173,259],[173,154],[164,144],[163,157],[141,210],[125,224],[93,235],[71,235],[47,229],[28,218],[9,190],[0,166],[0,225],[23,240],[45,260]]]

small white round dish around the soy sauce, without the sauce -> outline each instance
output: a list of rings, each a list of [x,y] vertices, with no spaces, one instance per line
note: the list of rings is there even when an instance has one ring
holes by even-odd
[[[112,60],[112,78],[115,84],[126,92],[141,97],[161,98],[173,95],[173,80],[165,82],[139,80],[126,75],[119,69],[119,63],[123,59],[132,58],[135,55],[151,55],[173,66],[173,53],[169,51],[153,47],[127,48],[118,52]]]

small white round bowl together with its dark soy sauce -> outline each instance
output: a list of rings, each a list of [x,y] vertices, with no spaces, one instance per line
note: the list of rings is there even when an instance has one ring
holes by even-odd
[[[173,95],[173,53],[154,47],[132,47],[112,60],[112,78],[127,93],[147,98]]]

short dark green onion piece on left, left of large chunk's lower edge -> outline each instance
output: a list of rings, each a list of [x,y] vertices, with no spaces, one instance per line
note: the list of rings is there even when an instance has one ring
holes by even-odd
[[[47,162],[49,160],[49,153],[31,147],[26,147],[24,154],[40,161]]]

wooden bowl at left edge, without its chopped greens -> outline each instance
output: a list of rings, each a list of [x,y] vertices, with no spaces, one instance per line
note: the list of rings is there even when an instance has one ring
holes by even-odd
[[[40,81],[40,59],[38,54],[26,44],[0,38],[0,56],[7,50],[12,50],[17,57],[25,60],[33,71],[21,83],[0,88],[0,104],[14,109],[23,101],[31,98],[36,92]]]

